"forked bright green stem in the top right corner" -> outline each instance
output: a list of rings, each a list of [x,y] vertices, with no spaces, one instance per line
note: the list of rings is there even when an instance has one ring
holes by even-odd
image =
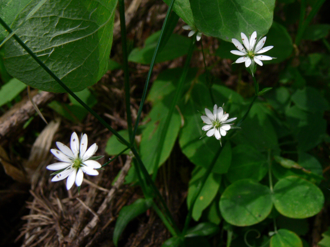
[[[305,21],[303,21],[302,17],[305,16],[306,0],[301,1],[299,26],[298,26],[297,36],[296,36],[296,39],[295,39],[295,42],[294,42],[297,46],[300,44],[300,41],[302,39],[302,36],[305,32],[306,27],[310,24],[310,22],[312,21],[312,19],[315,16],[315,14],[321,8],[324,1],[325,0],[317,0],[315,2],[314,6],[312,6],[312,11],[308,14]]]

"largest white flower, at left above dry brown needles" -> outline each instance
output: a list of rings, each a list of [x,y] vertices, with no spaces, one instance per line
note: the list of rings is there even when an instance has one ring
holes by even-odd
[[[59,181],[68,178],[66,188],[69,190],[76,181],[77,186],[82,184],[83,173],[88,175],[98,175],[95,169],[101,168],[101,164],[91,157],[97,151],[97,145],[94,143],[87,150],[87,135],[83,134],[79,143],[76,132],[71,135],[71,149],[63,143],[56,142],[57,149],[51,149],[51,153],[60,161],[47,166],[48,170],[62,170],[51,181]],[[87,150],[87,151],[86,151]]]

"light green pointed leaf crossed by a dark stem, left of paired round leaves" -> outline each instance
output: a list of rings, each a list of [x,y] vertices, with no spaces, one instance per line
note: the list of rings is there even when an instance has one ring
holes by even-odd
[[[188,208],[191,207],[192,198],[195,196],[196,189],[201,182],[201,179],[205,176],[206,169],[203,167],[196,167],[189,181],[187,204]],[[192,217],[198,221],[202,216],[203,210],[209,206],[212,200],[215,198],[216,193],[219,190],[221,183],[221,175],[210,173],[206,179],[201,192],[197,196],[197,200],[192,208]],[[190,209],[191,210],[191,209]]]

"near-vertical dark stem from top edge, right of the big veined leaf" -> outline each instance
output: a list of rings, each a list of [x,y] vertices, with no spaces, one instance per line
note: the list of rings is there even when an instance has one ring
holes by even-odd
[[[131,140],[132,137],[132,114],[130,107],[130,83],[128,73],[128,55],[127,55],[127,41],[126,41],[126,22],[125,22],[125,5],[124,0],[118,0],[119,18],[120,18],[120,33],[121,33],[121,48],[124,60],[124,81],[125,81],[125,104],[127,115],[128,135]]]

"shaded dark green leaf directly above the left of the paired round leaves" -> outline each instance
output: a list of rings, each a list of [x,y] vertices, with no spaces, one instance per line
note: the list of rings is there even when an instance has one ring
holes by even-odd
[[[268,171],[267,158],[250,145],[241,144],[233,148],[232,162],[226,174],[229,181],[243,178],[260,181]]]

